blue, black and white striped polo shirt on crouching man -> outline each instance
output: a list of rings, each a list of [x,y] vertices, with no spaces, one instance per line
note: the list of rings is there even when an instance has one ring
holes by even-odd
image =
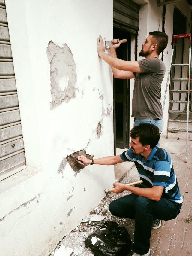
[[[135,163],[140,179],[143,180],[142,187],[163,186],[162,197],[177,203],[181,209],[183,198],[173,169],[173,162],[167,151],[155,147],[146,160],[141,154],[133,154],[130,148],[121,154],[121,159]]]

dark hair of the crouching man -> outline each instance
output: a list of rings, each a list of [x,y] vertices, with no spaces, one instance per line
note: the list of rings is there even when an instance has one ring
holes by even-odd
[[[159,128],[151,123],[140,123],[140,125],[135,126],[130,132],[131,138],[139,138],[139,142],[142,146],[149,145],[154,148],[160,139]]]

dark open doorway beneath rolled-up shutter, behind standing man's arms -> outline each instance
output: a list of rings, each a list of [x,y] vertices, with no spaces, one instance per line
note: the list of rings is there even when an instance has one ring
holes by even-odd
[[[121,44],[117,49],[117,58],[130,60],[131,53],[131,34],[113,28],[113,38],[127,39],[128,42]],[[130,102],[130,80],[113,80],[114,97],[114,151],[116,148],[128,148],[129,145],[129,102]]]

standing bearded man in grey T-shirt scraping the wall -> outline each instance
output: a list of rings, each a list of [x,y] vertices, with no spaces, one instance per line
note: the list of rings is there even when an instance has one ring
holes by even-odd
[[[145,59],[138,61],[118,59],[116,49],[121,42],[119,39],[113,39],[112,43],[108,55],[105,53],[104,41],[99,35],[98,55],[111,66],[114,78],[135,78],[131,115],[134,117],[134,126],[152,123],[161,133],[164,126],[161,83],[165,75],[165,65],[159,59],[159,54],[167,47],[167,34],[160,31],[150,32],[139,53],[139,56]]]

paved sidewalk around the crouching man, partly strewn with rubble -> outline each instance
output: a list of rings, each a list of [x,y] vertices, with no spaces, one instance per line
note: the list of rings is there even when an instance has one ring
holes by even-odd
[[[188,163],[185,163],[185,155],[179,154],[185,152],[186,133],[169,133],[168,139],[166,139],[166,133],[164,132],[161,136],[160,144],[162,148],[170,153],[184,202],[182,210],[176,219],[162,221],[161,228],[152,230],[151,252],[153,256],[188,256],[192,255],[192,133],[189,133]],[[139,180],[138,172],[136,167],[133,167],[121,182],[126,184],[137,180]],[[91,211],[91,214],[104,215],[104,221],[116,221],[119,226],[126,227],[133,240],[134,220],[117,218],[111,215],[108,210],[111,201],[126,194],[128,194],[127,191],[122,194],[107,194],[101,203]],[[73,254],[71,255],[93,255],[91,250],[85,247],[84,240],[91,232],[98,230],[98,227],[104,221],[81,223],[61,240],[55,251],[61,245],[64,245],[73,249]],[[55,254],[55,251],[52,252],[52,255]],[[130,251],[128,256],[132,254],[133,251]]]

